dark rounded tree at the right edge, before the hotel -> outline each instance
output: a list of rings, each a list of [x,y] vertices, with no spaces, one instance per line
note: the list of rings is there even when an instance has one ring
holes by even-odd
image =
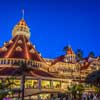
[[[98,89],[100,89],[100,70],[93,71],[86,77],[86,83],[96,86]]]

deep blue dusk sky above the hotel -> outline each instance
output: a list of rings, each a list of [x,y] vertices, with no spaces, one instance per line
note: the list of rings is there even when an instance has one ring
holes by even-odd
[[[0,0],[0,47],[12,38],[22,9],[30,40],[43,57],[63,55],[68,44],[84,56],[100,55],[100,0]]]

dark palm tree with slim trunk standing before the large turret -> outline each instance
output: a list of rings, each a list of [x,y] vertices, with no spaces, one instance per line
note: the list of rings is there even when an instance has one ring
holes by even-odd
[[[24,100],[24,91],[25,91],[25,77],[26,73],[28,73],[32,68],[29,67],[24,62],[15,63],[14,65],[18,66],[18,69],[16,69],[13,73],[14,76],[22,76],[21,77],[21,91],[22,91],[22,100]]]

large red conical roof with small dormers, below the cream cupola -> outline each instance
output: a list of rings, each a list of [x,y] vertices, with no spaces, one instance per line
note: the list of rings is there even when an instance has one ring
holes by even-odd
[[[22,58],[45,62],[45,60],[39,55],[38,51],[25,36],[17,35],[10,41],[2,47],[6,48],[7,50],[0,50],[0,58]],[[20,41],[22,43],[20,43]]]

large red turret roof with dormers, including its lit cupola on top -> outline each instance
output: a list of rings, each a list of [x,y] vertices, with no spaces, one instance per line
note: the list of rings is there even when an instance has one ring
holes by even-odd
[[[30,32],[24,19],[21,19],[14,27],[12,34],[13,38],[0,48],[0,58],[19,58],[45,62],[27,38]]]

